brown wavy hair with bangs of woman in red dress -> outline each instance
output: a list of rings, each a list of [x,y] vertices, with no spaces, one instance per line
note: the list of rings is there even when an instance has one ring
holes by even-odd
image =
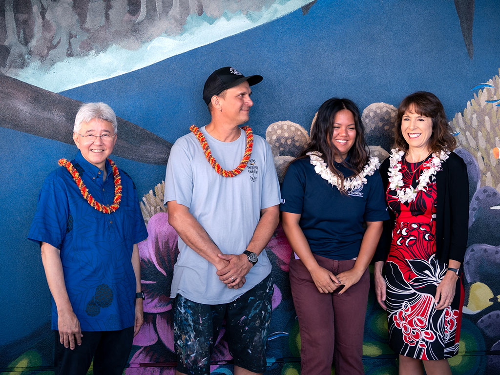
[[[408,150],[408,143],[401,132],[401,121],[404,112],[412,109],[421,116],[432,119],[432,134],[429,138],[429,150],[433,153],[453,151],[456,139],[451,134],[451,127],[446,119],[446,113],[441,101],[432,92],[417,91],[406,96],[397,108],[397,122],[394,126],[394,144],[399,149]]]

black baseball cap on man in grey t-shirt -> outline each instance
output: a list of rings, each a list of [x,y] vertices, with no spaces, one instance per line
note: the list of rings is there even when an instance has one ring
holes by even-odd
[[[218,95],[223,90],[237,86],[244,81],[247,81],[252,86],[261,80],[261,75],[249,75],[245,77],[232,66],[221,67],[206,78],[205,85],[203,86],[203,100],[208,105],[212,96]]]

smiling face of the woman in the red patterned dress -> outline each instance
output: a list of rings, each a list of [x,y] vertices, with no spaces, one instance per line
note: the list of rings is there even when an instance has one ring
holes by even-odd
[[[401,133],[409,148],[428,151],[429,139],[432,135],[432,118],[416,112],[411,105],[401,119]]]

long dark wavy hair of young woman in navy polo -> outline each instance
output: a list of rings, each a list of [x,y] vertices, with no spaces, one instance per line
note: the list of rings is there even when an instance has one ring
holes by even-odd
[[[317,110],[316,120],[313,123],[309,143],[305,149],[297,157],[302,158],[306,156],[307,152],[319,151],[323,154],[323,159],[328,165],[328,168],[340,179],[340,191],[344,191],[343,181],[345,177],[333,163],[335,156],[342,158],[337,147],[331,141],[333,135],[333,123],[335,120],[335,115],[342,109],[347,109],[352,113],[354,117],[354,126],[356,129],[356,138],[354,139],[354,144],[349,149],[348,157],[349,161],[346,162],[342,160],[342,165],[352,170],[352,174],[358,174],[363,169],[364,165],[368,161],[369,151],[364,140],[364,126],[361,121],[361,115],[356,104],[349,99],[339,99],[333,97],[326,100],[321,104]]]

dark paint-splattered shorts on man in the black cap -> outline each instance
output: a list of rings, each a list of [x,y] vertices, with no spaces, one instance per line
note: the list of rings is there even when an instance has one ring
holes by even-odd
[[[210,373],[210,355],[225,319],[225,339],[234,364],[253,372],[265,370],[265,343],[274,290],[270,276],[230,303],[203,304],[177,294],[173,339],[177,371]]]

